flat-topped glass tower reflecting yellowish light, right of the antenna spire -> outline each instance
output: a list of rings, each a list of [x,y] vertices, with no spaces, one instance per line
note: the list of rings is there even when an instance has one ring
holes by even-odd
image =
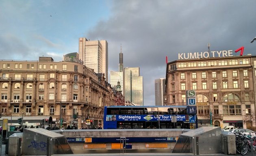
[[[138,106],[143,106],[143,76],[139,74],[139,67],[124,68],[124,96]]]

